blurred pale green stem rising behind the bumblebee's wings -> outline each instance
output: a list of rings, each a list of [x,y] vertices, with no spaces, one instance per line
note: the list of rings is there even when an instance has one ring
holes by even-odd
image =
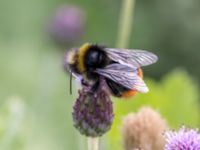
[[[133,24],[135,0],[123,0],[122,3],[116,47],[127,48]]]

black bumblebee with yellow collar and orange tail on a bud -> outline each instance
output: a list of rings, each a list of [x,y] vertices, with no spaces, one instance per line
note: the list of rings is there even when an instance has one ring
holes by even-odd
[[[68,71],[83,86],[97,89],[100,79],[106,81],[109,92],[116,97],[130,97],[137,92],[146,93],[142,66],[155,63],[158,57],[145,50],[107,48],[85,43],[71,49],[65,58]]]

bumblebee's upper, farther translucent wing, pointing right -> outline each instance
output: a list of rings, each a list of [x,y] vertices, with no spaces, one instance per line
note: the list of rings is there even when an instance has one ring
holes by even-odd
[[[147,66],[158,60],[155,54],[145,50],[105,48],[105,51],[110,59],[129,67]]]

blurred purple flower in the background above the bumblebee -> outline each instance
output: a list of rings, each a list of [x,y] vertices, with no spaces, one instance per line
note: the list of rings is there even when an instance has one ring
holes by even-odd
[[[71,46],[83,35],[85,15],[83,10],[75,5],[59,7],[51,19],[48,32],[56,43]]]

